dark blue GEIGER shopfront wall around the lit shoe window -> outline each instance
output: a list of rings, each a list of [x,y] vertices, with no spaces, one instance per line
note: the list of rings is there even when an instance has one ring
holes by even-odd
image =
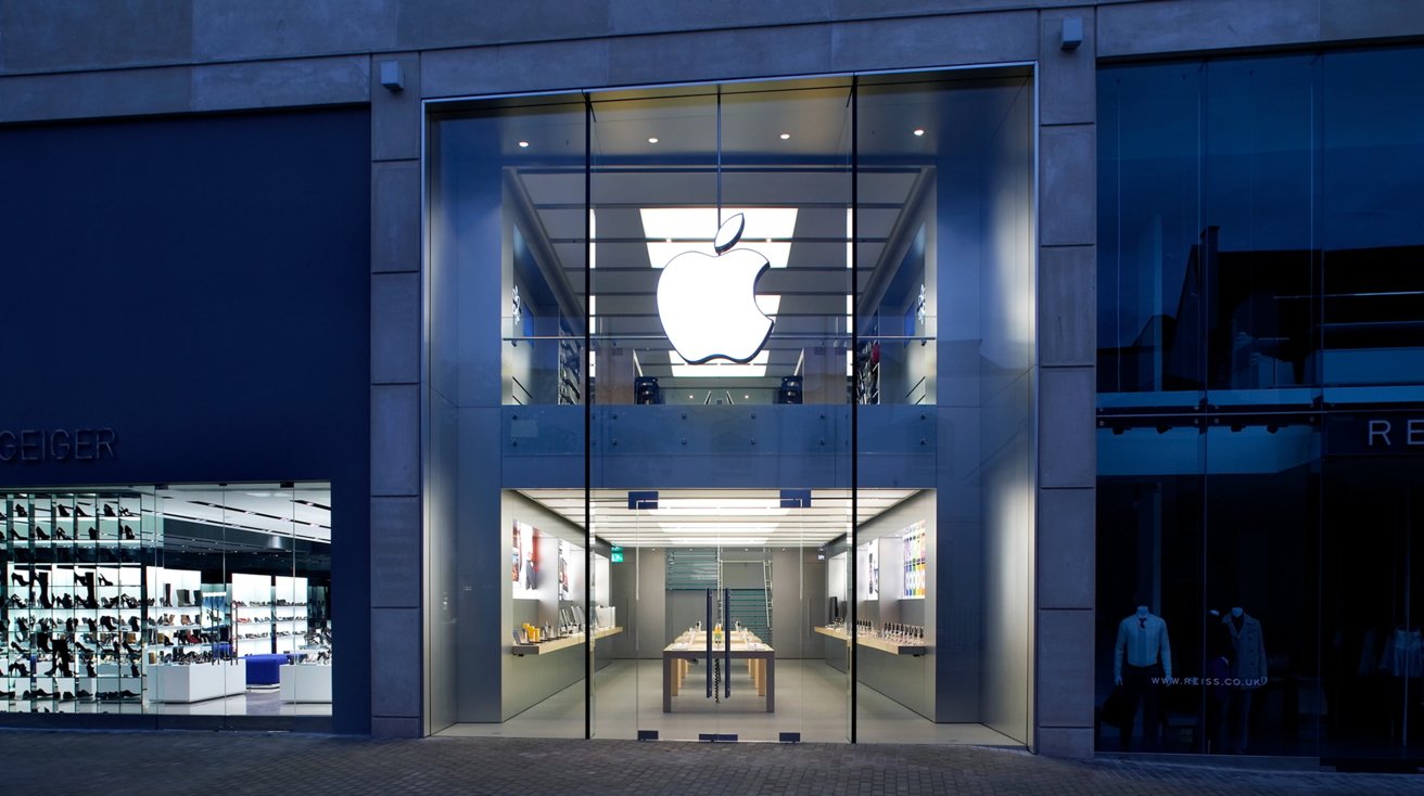
[[[0,130],[0,490],[328,483],[323,609],[340,664],[325,723],[357,733],[370,723],[369,128],[367,110],[343,108]],[[38,550],[14,538],[10,561]]]

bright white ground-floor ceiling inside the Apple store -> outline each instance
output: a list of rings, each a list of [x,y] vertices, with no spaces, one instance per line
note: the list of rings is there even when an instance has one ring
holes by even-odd
[[[584,527],[584,490],[521,494]],[[860,523],[916,490],[860,490]],[[658,508],[629,510],[628,490],[594,490],[594,534],[621,547],[813,547],[850,533],[850,490],[812,490],[807,508],[780,508],[779,490],[659,490]]]

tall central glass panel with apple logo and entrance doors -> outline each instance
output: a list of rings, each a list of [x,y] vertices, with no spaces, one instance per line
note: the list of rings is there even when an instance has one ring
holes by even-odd
[[[849,520],[849,496],[807,488],[843,478],[849,447],[849,97],[594,98],[591,450],[594,494],[619,504],[595,534],[637,545],[635,635],[609,669],[637,672],[618,726],[638,733],[844,738],[844,675],[812,632],[826,585],[803,561]]]

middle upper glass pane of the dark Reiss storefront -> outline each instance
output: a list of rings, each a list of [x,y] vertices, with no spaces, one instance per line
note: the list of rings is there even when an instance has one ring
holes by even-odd
[[[1206,67],[1206,225],[1196,263],[1206,313],[1195,333],[1206,340],[1208,389],[1226,392],[1213,394],[1213,403],[1227,403],[1236,390],[1314,383],[1307,370],[1314,340],[1317,63],[1296,56]]]

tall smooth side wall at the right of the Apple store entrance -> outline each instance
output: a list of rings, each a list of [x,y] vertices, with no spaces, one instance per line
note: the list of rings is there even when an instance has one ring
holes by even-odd
[[[977,157],[941,164],[941,493],[937,584],[941,682],[978,681],[977,699],[937,695],[941,721],[978,721],[1027,739],[1032,396],[1031,83],[987,130]],[[965,187],[973,189],[965,191]],[[983,580],[980,580],[983,578]],[[967,584],[978,588],[968,588]],[[947,608],[946,608],[947,605]],[[975,639],[965,642],[961,639]]]

